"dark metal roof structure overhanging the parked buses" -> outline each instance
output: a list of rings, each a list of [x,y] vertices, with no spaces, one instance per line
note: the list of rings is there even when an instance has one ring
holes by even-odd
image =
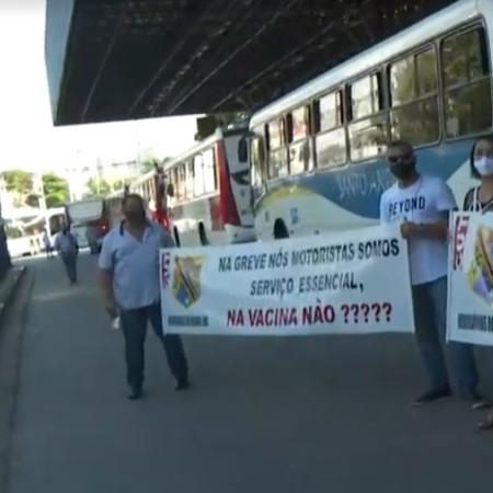
[[[248,111],[451,0],[47,0],[56,125]]]

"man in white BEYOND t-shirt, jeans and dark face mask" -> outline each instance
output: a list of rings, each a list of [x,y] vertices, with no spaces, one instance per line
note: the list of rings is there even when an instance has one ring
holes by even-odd
[[[431,387],[414,401],[421,405],[451,394],[447,371],[449,358],[457,390],[474,406],[482,403],[477,392],[478,372],[469,345],[449,343],[445,352],[447,321],[448,214],[456,200],[448,185],[435,176],[421,175],[409,142],[390,142],[387,160],[397,183],[380,200],[380,220],[400,222],[409,242],[415,335]]]

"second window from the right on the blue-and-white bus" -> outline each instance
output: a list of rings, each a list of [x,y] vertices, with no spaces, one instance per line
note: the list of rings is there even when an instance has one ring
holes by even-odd
[[[413,146],[439,139],[438,77],[434,47],[390,66],[390,130]]]

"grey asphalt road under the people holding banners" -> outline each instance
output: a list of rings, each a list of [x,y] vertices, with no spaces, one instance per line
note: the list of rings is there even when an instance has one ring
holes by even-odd
[[[30,267],[8,493],[493,488],[481,414],[452,400],[410,408],[423,390],[411,336],[188,337],[194,387],[176,393],[149,331],[147,395],[130,402],[95,259],[81,257],[77,287],[57,260]]]

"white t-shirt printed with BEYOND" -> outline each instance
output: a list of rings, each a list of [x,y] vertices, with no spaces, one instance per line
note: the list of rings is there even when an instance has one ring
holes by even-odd
[[[444,219],[444,213],[455,208],[454,194],[443,180],[435,176],[420,176],[417,182],[406,188],[394,184],[383,192],[380,200],[380,220],[426,225]],[[413,285],[432,283],[447,275],[446,242],[427,238],[411,239],[409,255]]]

